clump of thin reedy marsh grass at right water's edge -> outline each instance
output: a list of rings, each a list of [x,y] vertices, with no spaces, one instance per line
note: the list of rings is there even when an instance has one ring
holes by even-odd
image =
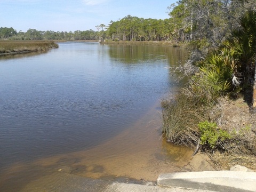
[[[178,93],[174,100],[162,101],[161,105],[162,132],[167,141],[189,147],[196,146],[199,138],[197,124],[205,121],[207,107],[196,105],[194,98],[184,92]]]

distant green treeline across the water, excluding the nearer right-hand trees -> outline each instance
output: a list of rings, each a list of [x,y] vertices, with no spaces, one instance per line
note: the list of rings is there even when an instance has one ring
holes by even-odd
[[[143,19],[127,15],[121,20],[110,21],[109,26],[95,26],[97,30],[80,31],[40,31],[28,29],[27,32],[7,27],[0,28],[0,39],[11,40],[103,40],[113,41],[164,41],[171,36],[170,19]]]

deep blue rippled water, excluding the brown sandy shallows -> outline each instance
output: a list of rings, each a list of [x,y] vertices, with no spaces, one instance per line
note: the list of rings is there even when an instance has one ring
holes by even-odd
[[[0,172],[115,137],[177,89],[167,67],[184,54],[167,46],[60,43],[43,54],[0,57]]]

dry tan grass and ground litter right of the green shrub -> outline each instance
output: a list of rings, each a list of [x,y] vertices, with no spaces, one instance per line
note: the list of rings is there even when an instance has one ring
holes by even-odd
[[[224,151],[210,154],[215,168],[229,170],[239,164],[256,171],[256,114],[250,113],[250,107],[242,98],[222,98],[219,106],[219,127],[228,130],[232,138],[226,143]]]

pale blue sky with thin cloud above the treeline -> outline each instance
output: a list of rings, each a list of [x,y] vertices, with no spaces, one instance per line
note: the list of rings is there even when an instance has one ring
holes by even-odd
[[[127,15],[166,19],[167,6],[177,0],[0,0],[0,27],[19,32],[97,30],[101,23]]]

